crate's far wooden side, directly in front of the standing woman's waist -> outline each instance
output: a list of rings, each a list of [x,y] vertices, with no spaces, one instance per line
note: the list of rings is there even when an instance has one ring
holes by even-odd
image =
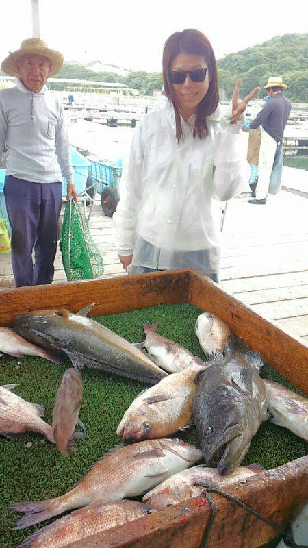
[[[97,305],[92,308],[89,316],[118,314],[160,304],[186,302],[188,286],[189,271],[177,270],[141,276],[8,288],[0,293],[0,325],[9,325],[16,316],[30,310],[68,308],[70,312],[78,312],[96,301]]]

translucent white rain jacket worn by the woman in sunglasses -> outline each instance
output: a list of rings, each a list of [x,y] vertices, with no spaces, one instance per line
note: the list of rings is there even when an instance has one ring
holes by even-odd
[[[231,199],[248,181],[239,135],[243,120],[231,124],[231,115],[222,117],[218,107],[207,118],[207,137],[199,139],[182,119],[183,141],[178,143],[170,105],[144,116],[120,179],[114,214],[120,255],[133,253],[137,266],[218,272],[213,200]]]

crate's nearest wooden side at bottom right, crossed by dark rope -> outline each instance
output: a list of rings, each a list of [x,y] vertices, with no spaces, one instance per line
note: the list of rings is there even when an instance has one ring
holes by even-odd
[[[246,505],[285,527],[308,500],[308,457],[264,471],[224,488]],[[255,548],[277,536],[269,525],[247,514],[222,495],[216,504],[207,548]],[[204,497],[159,510],[131,523],[71,543],[67,548],[198,548],[211,516]]]

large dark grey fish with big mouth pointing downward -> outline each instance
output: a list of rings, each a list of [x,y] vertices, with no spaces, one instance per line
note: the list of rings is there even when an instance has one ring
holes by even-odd
[[[268,419],[259,353],[228,352],[201,373],[193,416],[207,466],[225,475],[240,466],[251,439]]]

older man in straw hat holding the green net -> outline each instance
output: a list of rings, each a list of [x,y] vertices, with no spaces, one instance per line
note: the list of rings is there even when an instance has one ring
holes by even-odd
[[[0,158],[5,144],[4,195],[16,287],[53,280],[62,176],[67,198],[77,199],[62,102],[45,85],[62,65],[63,55],[39,38],[23,40],[1,64],[5,74],[16,77],[16,87],[0,91]]]

